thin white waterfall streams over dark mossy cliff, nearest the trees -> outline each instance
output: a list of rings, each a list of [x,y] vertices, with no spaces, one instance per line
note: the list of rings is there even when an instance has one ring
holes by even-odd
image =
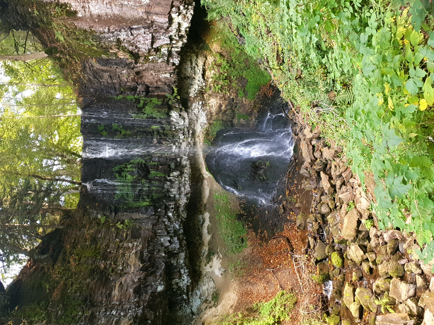
[[[157,117],[114,99],[83,109],[82,183],[88,193],[123,208],[149,207],[171,195],[187,159],[186,122],[166,103],[153,112]]]

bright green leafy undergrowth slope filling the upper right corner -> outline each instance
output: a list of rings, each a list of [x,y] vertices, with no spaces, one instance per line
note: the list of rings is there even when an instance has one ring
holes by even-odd
[[[414,231],[434,253],[433,17],[429,3],[206,0],[230,17],[247,52],[282,94],[336,145],[365,186],[380,227]],[[399,9],[398,9],[399,8]],[[289,105],[291,106],[291,104]],[[290,107],[291,108],[291,107]]]

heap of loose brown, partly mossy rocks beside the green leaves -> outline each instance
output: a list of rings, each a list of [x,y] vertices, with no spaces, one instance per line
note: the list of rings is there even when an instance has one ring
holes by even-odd
[[[304,159],[302,188],[313,195],[311,213],[299,214],[297,227],[309,235],[312,279],[332,288],[327,323],[434,324],[432,265],[414,253],[420,249],[415,235],[380,230],[369,209],[372,177],[367,175],[364,191],[342,149],[321,138],[301,114],[291,115]]]

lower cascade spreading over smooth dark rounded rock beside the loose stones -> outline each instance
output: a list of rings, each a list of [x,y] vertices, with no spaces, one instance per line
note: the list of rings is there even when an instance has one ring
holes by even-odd
[[[280,99],[266,104],[254,128],[220,130],[206,157],[215,180],[250,205],[270,205],[283,194],[294,147],[284,105]]]

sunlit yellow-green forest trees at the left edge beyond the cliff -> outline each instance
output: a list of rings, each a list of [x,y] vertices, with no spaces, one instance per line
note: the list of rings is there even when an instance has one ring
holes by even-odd
[[[0,42],[0,262],[3,274],[59,226],[79,198],[81,110],[71,84],[28,31]],[[43,52],[42,52],[43,53]],[[15,61],[14,58],[18,59]],[[7,58],[7,60],[4,60]]]

